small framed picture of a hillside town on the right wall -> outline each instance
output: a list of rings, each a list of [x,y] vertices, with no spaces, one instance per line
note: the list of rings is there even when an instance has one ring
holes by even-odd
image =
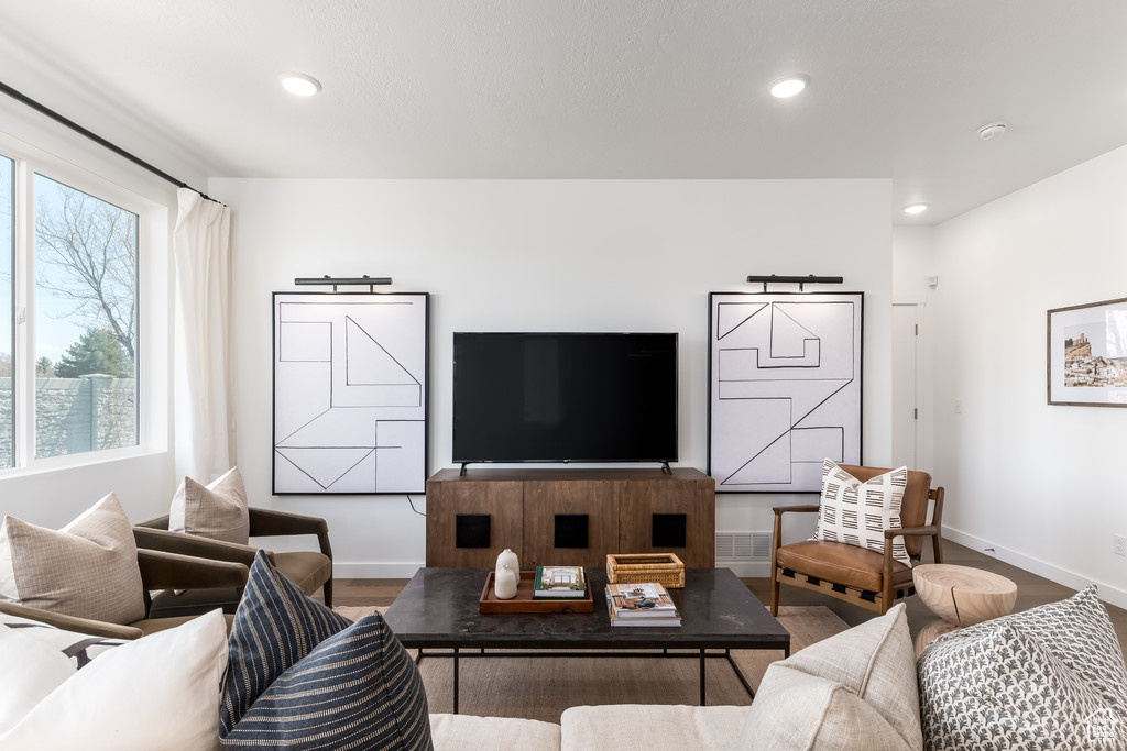
[[[1127,297],[1048,312],[1048,403],[1127,406]]]

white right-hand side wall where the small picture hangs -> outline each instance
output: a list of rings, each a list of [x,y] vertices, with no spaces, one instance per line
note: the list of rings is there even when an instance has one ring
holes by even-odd
[[[1046,403],[1046,311],[1127,296],[1125,206],[1127,147],[946,222],[934,295],[948,536],[1121,607],[1127,411]]]

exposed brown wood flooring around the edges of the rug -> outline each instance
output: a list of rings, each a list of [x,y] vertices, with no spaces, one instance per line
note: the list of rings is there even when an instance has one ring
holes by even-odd
[[[924,553],[924,562],[931,562],[930,553],[926,551]],[[1048,579],[1029,573],[1028,571],[1003,563],[990,555],[973,551],[950,540],[943,540],[943,563],[984,569],[1012,580],[1018,584],[1018,601],[1014,605],[1014,611],[1027,610],[1046,602],[1063,600],[1076,593],[1076,590],[1057,584]],[[767,602],[770,600],[771,581],[769,579],[744,579],[744,583],[747,584],[748,589],[761,601]],[[392,600],[396,599],[396,596],[399,594],[406,584],[406,579],[337,579],[334,583],[334,605],[391,605]],[[850,605],[849,602],[797,587],[783,585],[779,594],[779,602],[780,605],[824,605],[851,626],[876,617],[876,614],[859,608],[855,605]],[[906,604],[908,626],[914,637],[924,625],[935,617],[920,601],[919,597],[907,598]],[[1124,649],[1127,645],[1127,610],[1117,608],[1113,605],[1104,605],[1108,608],[1108,614],[1111,616],[1111,624],[1115,626],[1116,634],[1119,636],[1119,646]]]

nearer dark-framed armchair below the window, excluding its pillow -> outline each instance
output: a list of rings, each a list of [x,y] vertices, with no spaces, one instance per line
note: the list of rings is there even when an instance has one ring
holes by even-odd
[[[206,561],[176,553],[137,549],[137,565],[141,567],[141,581],[144,584],[145,617],[131,624],[115,624],[105,620],[94,620],[77,616],[68,616],[51,610],[33,608],[26,605],[0,601],[0,613],[30,618],[56,628],[103,636],[106,638],[133,640],[166,628],[172,628],[190,620],[194,616],[161,618],[152,614],[150,590],[171,589],[180,587],[224,588],[242,594],[247,584],[248,567],[242,563],[228,561]],[[198,615],[198,614],[197,614]],[[231,619],[228,618],[228,629]]]

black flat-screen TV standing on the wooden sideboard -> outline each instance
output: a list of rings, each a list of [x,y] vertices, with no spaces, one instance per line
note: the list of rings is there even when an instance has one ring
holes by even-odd
[[[455,332],[453,454],[675,462],[677,334]]]

